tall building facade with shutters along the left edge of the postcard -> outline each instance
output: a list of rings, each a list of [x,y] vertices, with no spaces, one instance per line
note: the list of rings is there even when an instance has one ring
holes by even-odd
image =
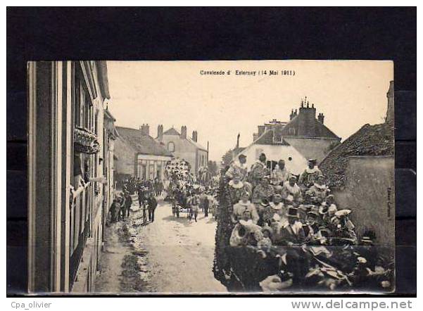
[[[92,291],[113,196],[103,61],[28,64],[28,290]]]

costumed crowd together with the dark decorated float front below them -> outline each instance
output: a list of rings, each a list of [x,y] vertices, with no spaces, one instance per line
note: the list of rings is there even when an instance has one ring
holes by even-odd
[[[241,154],[225,168],[213,271],[228,288],[391,286],[392,262],[371,232],[358,237],[352,210],[339,208],[316,162],[296,175],[264,153],[247,167]]]

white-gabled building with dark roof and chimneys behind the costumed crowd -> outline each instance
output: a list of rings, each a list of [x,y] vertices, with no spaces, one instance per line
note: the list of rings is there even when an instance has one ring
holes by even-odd
[[[258,125],[253,143],[246,148],[236,146],[236,155],[247,155],[247,164],[252,165],[260,153],[265,153],[269,165],[272,161],[285,160],[293,174],[300,174],[308,159],[315,158],[320,163],[341,141],[324,125],[323,113],[316,118],[316,108],[308,101],[301,101],[299,110],[292,110],[289,119],[289,122],[273,119]]]

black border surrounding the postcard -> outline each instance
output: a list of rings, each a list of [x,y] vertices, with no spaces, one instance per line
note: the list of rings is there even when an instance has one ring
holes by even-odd
[[[7,295],[27,288],[27,61],[385,59],[394,61],[403,92],[396,92],[397,286],[383,296],[415,296],[416,20],[415,7],[7,8]]]

